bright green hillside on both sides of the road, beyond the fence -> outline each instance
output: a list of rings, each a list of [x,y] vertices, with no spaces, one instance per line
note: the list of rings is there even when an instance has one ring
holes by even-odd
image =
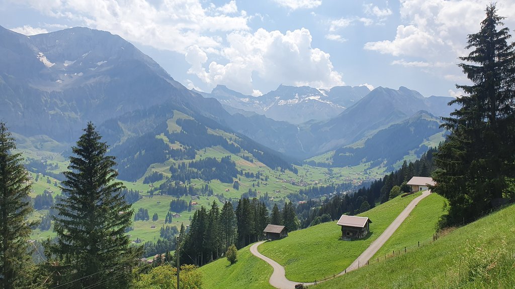
[[[419,194],[405,198],[394,198],[361,214],[369,216],[373,220],[371,225],[372,236],[367,240],[340,241],[340,227],[336,226],[335,222],[329,222],[290,232],[287,238],[264,243],[259,247],[259,250],[267,256],[279,256],[278,254],[281,254],[282,259],[278,262],[285,264],[286,276],[293,281],[312,282],[315,278],[320,279],[320,277],[339,273],[350,265],[417,195]],[[431,194],[424,198],[390,240],[385,243],[382,250],[391,251],[392,248],[399,250],[408,243],[415,242],[416,244],[418,240],[426,240],[432,237],[435,232],[435,224],[442,214],[442,206],[443,198],[437,194]],[[390,221],[387,222],[387,220]],[[281,247],[286,249],[281,249]],[[328,254],[329,251],[334,254]],[[218,288],[217,284],[220,284],[223,288],[238,288],[243,284],[251,284],[251,288],[254,288],[254,286],[256,288],[270,286],[268,279],[271,276],[271,267],[261,259],[252,256],[249,246],[239,250],[238,256],[241,257],[238,257],[237,266],[228,266],[229,262],[225,258],[202,266],[205,287]],[[278,260],[277,258],[274,259]],[[305,262],[300,260],[305,260]],[[241,267],[258,269],[240,271],[239,268]],[[313,280],[305,278],[302,280],[301,277],[295,276],[297,272],[306,274],[309,276],[308,278],[313,278]],[[219,277],[213,278],[210,276]]]

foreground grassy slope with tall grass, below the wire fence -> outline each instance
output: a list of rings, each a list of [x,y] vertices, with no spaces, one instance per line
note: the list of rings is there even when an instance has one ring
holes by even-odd
[[[310,288],[515,288],[513,215],[515,205],[407,254]]]

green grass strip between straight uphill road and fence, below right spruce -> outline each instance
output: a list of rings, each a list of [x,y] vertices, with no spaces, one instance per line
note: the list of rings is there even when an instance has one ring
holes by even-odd
[[[371,259],[384,258],[385,254],[391,255],[393,250],[403,250],[404,247],[417,247],[419,241],[424,244],[428,240],[433,240],[438,219],[444,213],[444,202],[445,198],[438,194],[430,194],[423,198]]]

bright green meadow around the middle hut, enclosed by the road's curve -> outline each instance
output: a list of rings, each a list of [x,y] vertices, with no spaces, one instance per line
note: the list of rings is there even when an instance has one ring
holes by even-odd
[[[260,245],[260,252],[283,265],[286,278],[312,282],[347,268],[420,193],[400,196],[363,214],[372,220],[366,239],[342,241],[336,222],[323,223],[289,233],[287,238]]]

